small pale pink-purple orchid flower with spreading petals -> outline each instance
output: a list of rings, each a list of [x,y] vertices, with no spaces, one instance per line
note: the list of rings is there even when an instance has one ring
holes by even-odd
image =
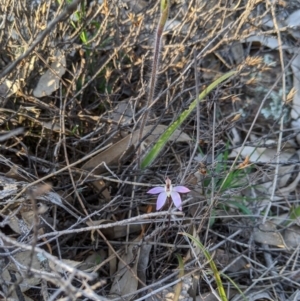
[[[169,178],[166,178],[166,185],[164,187],[154,187],[147,191],[147,193],[150,194],[158,194],[157,202],[156,202],[156,210],[161,209],[164,204],[166,203],[167,199],[172,198],[173,203],[175,206],[179,209],[182,210],[181,206],[181,197],[180,194],[178,193],[188,193],[190,190],[185,187],[185,186],[172,186],[172,182]]]

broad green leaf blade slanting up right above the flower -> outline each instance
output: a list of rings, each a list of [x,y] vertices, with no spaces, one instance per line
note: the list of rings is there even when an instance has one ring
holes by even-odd
[[[197,101],[202,101],[214,88],[216,88],[220,83],[224,82],[226,79],[230,78],[234,74],[236,74],[236,71],[230,71],[228,73],[225,73],[221,77],[219,77],[217,80],[215,80],[213,83],[211,83],[198,97],[198,99],[195,99],[189,106],[187,110],[182,112],[180,116],[177,118],[175,122],[173,122],[167,130],[160,136],[158,141],[155,143],[155,145],[151,148],[151,150],[146,154],[146,156],[143,158],[143,161],[141,163],[141,169],[147,168],[151,163],[156,159],[156,157],[159,155],[160,151],[163,149],[163,147],[166,145],[172,134],[175,132],[176,129],[179,128],[179,126],[184,122],[184,120],[191,114],[191,112],[196,108]]]

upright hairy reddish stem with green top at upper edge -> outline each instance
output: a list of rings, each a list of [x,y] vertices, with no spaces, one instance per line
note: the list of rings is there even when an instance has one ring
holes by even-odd
[[[165,28],[165,24],[166,24],[168,16],[169,16],[169,7],[170,7],[169,1],[170,0],[161,0],[161,5],[160,5],[161,15],[160,15],[159,23],[158,23],[156,34],[155,34],[154,55],[153,55],[153,61],[152,61],[152,71],[151,71],[151,75],[150,75],[149,93],[148,93],[147,102],[146,102],[146,111],[142,116],[139,141],[142,140],[143,131],[144,131],[145,125],[147,123],[148,115],[149,115],[148,109],[151,106],[151,104],[153,102],[153,98],[154,98],[156,79],[157,79],[157,71],[158,71],[158,63],[159,63],[159,56],[160,56],[161,38],[162,38],[162,34],[163,34],[163,31]],[[140,150],[141,150],[141,147],[139,148],[139,160],[138,160],[139,166],[140,166]]]

